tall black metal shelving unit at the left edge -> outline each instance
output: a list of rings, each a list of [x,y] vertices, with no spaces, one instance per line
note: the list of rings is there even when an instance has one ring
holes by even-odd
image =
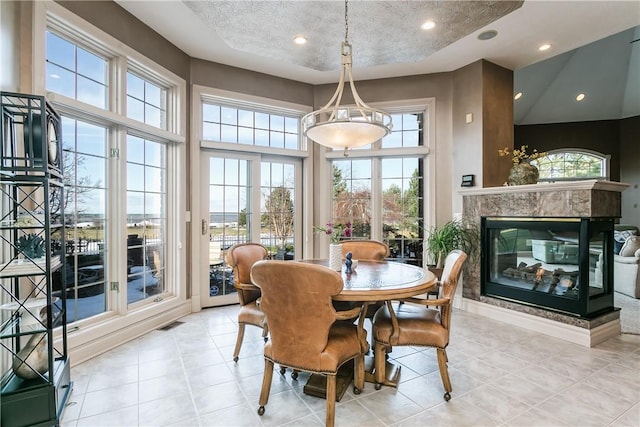
[[[0,424],[58,425],[72,388],[60,117],[42,96],[0,99]]]

